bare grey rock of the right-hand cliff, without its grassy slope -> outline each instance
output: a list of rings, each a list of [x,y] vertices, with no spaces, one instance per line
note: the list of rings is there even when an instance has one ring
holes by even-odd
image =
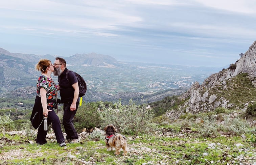
[[[239,73],[248,73],[252,78],[252,84],[256,87],[256,41],[250,46],[249,50],[234,64],[231,64],[229,68],[223,69],[219,73],[209,76],[200,85],[195,82],[187,92],[179,97],[184,102],[179,106],[179,110],[171,109],[166,112],[166,116],[170,119],[177,119],[184,112],[187,113],[199,113],[201,111],[211,111],[216,107],[232,108],[234,103],[229,103],[229,98],[218,97],[215,92],[221,92],[221,90],[233,90],[231,86],[228,86],[230,78],[237,76]],[[216,88],[218,86],[218,88]],[[214,89],[214,90],[213,90]],[[209,93],[211,91],[211,94]],[[210,97],[209,97],[210,95]],[[256,99],[256,98],[255,98]],[[252,100],[252,102],[254,102]]]

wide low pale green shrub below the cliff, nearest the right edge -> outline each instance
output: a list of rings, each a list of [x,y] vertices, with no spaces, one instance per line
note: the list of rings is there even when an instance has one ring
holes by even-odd
[[[224,131],[237,135],[249,132],[249,123],[245,119],[224,117]]]

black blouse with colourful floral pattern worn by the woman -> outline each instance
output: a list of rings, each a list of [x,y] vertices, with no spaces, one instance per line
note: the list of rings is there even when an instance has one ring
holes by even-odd
[[[37,80],[37,95],[40,96],[40,88],[44,88],[46,90],[46,99],[57,99],[57,86],[56,84],[49,78],[44,75],[40,75]],[[54,107],[57,103],[47,103],[47,106]]]

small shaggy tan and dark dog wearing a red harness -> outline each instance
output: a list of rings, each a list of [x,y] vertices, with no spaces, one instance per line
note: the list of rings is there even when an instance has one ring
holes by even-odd
[[[123,149],[123,156],[127,155],[127,143],[126,138],[121,134],[115,134],[116,128],[110,124],[104,128],[106,134],[106,137],[109,137],[110,135],[114,135],[107,139],[105,138],[105,143],[107,145],[107,151],[116,150],[115,155],[119,155],[121,149]]]

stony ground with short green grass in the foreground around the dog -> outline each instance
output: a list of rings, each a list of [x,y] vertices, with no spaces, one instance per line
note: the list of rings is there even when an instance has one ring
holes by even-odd
[[[168,130],[167,130],[168,131]],[[244,157],[255,156],[253,152],[239,151],[239,147],[234,144],[241,143],[243,148],[254,149],[250,143],[246,143],[245,139],[239,136],[234,137],[217,137],[217,138],[205,138],[196,133],[186,134],[186,138],[179,138],[181,132],[173,133],[173,137],[159,136],[159,135],[140,135],[129,136],[128,138],[128,156],[122,155],[115,156],[114,151],[107,151],[103,140],[90,141],[89,139],[82,140],[81,143],[67,144],[67,147],[60,147],[56,142],[50,142],[47,144],[37,145],[29,144],[24,141],[21,142],[18,135],[12,138],[11,142],[15,142],[12,145],[4,145],[6,142],[0,141],[1,154],[15,152],[21,150],[24,154],[24,158],[14,157],[13,159],[1,160],[0,164],[82,164],[80,160],[90,161],[92,158],[96,164],[99,165],[136,165],[142,163],[157,164],[165,162],[166,164],[221,164],[223,161],[229,162],[235,161],[239,164],[239,161],[235,160],[239,155]],[[8,138],[9,135],[5,134]],[[249,135],[246,135],[249,137]],[[19,138],[17,138],[19,137]],[[21,142],[21,143],[20,143]],[[210,143],[221,143],[220,149],[209,149]],[[227,149],[229,146],[231,149]],[[77,149],[82,147],[83,149]],[[150,152],[145,148],[150,148]],[[85,151],[86,150],[86,151]],[[69,158],[67,154],[70,153],[76,158]],[[77,154],[78,153],[78,154]],[[123,152],[121,152],[123,153]],[[204,156],[204,153],[208,153]],[[35,157],[34,155],[39,155]],[[224,155],[230,155],[231,158]],[[92,158],[90,158],[92,157]],[[245,161],[251,160],[244,158]],[[179,161],[179,162],[176,162]],[[219,161],[219,163],[217,162]]]

